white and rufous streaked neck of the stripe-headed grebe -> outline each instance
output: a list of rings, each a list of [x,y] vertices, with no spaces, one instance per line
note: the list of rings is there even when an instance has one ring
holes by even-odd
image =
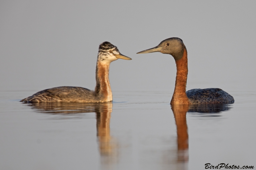
[[[97,62],[95,94],[101,102],[112,101],[112,91],[108,79],[110,63]]]

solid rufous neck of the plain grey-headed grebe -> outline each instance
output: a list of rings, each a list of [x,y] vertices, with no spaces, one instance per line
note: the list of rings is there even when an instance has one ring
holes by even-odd
[[[186,94],[188,77],[188,54],[186,48],[184,48],[182,58],[175,62],[177,67],[177,75],[171,104],[189,104],[189,100]]]

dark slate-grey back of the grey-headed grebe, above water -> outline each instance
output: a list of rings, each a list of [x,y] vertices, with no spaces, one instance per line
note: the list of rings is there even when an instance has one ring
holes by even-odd
[[[191,104],[234,103],[234,98],[219,88],[191,89],[186,92]]]

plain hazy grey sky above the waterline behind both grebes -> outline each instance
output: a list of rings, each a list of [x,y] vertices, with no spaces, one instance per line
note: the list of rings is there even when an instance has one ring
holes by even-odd
[[[173,91],[171,55],[136,54],[179,37],[187,90],[256,85],[256,1],[0,1],[0,90],[95,87],[99,44],[132,58],[110,65],[112,91]],[[26,96],[24,96],[26,97]]]

